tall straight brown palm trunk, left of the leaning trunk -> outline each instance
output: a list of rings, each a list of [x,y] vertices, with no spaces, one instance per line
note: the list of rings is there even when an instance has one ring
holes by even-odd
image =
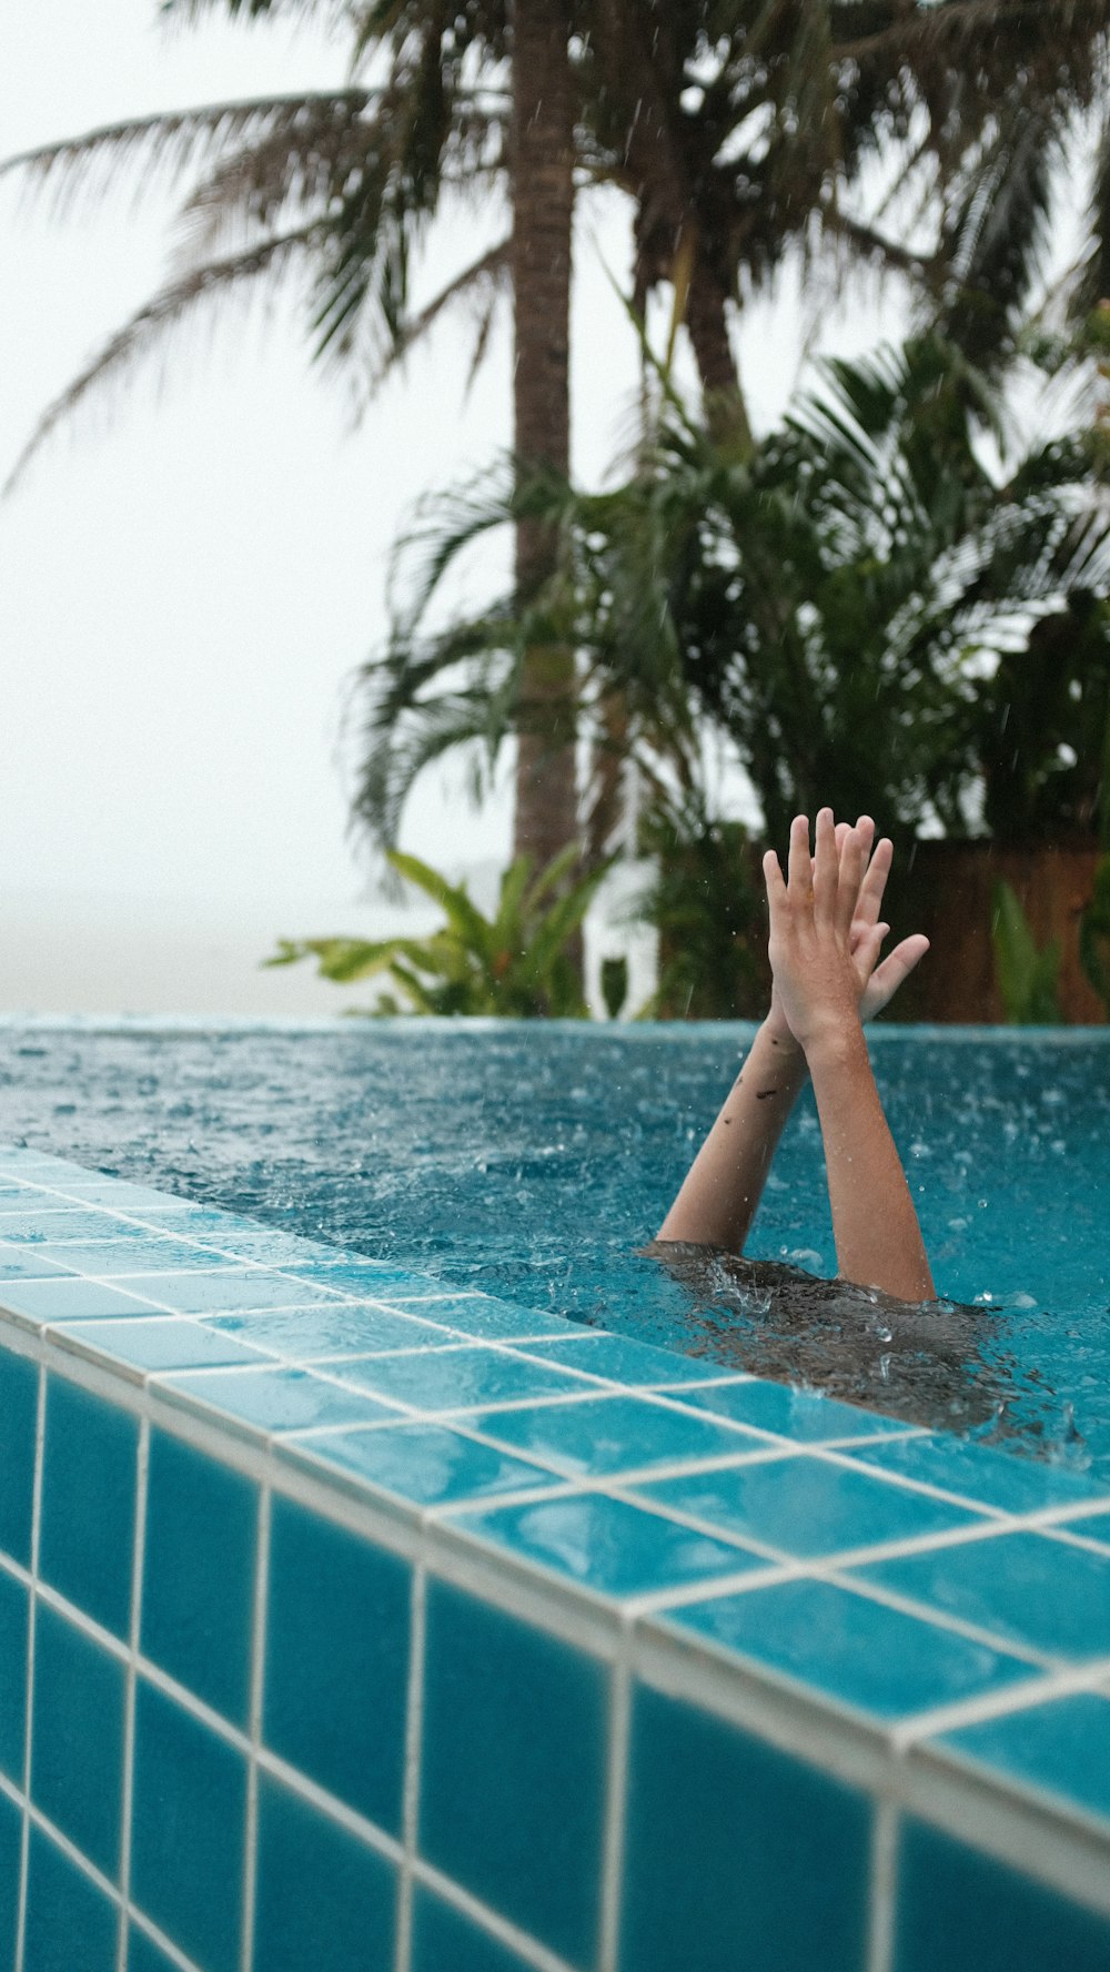
[[[513,290],[517,458],[570,471],[570,225],[574,112],[568,0],[513,6]],[[517,594],[524,601],[558,556],[548,527],[517,528]],[[517,757],[515,854],[536,868],[578,838],[574,651],[524,657]]]

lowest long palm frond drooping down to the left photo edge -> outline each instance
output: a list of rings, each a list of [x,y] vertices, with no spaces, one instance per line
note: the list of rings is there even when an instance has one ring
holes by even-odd
[[[61,396],[39,416],[28,444],[20,452],[4,487],[12,487],[24,477],[30,461],[43,444],[79,406],[95,392],[103,392],[122,381],[130,369],[152,355],[152,351],[181,323],[195,316],[205,302],[223,302],[233,290],[252,288],[260,280],[280,278],[298,258],[312,254],[319,243],[319,227],[300,227],[292,233],[262,241],[231,260],[213,260],[193,268],[181,280],[162,288],[152,302],[140,308],[122,329],[97,351],[79,377],[65,387]]]

